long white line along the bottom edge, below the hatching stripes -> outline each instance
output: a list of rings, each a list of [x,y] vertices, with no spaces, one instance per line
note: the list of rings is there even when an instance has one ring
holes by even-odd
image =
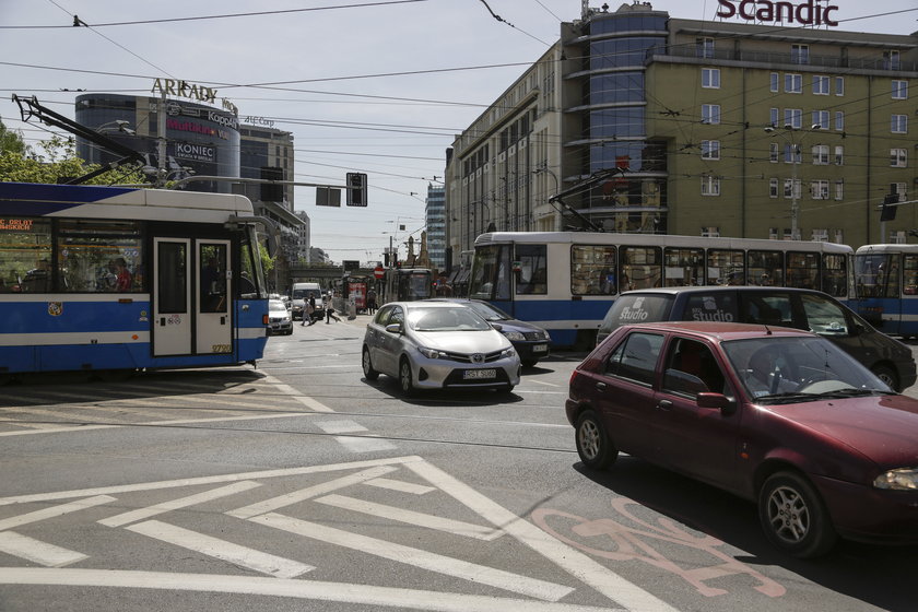
[[[333,601],[353,604],[354,607],[385,605],[429,612],[507,612],[508,610],[526,610],[527,612],[621,612],[621,610],[610,608],[536,601],[532,599],[459,595],[344,582],[214,574],[126,572],[121,569],[4,567],[0,568],[0,584],[256,595],[311,601]]]

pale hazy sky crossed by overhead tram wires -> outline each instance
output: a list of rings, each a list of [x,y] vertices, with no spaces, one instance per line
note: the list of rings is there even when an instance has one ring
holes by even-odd
[[[621,4],[609,2],[610,11]],[[717,0],[651,4],[708,21],[719,8]],[[918,31],[915,0],[832,4],[837,30]],[[316,207],[310,187],[296,187],[294,203],[311,220],[313,246],[332,261],[377,261],[390,239],[402,256],[409,236],[420,240],[427,186],[443,185],[446,150],[557,40],[561,22],[580,17],[581,5],[0,0],[0,120],[36,144],[50,133],[34,119],[21,121],[14,93],[72,118],[76,90],[153,95],[156,78],[215,87],[240,117],[263,117],[294,134],[295,180],[343,185],[345,173],[367,174],[365,209]],[[73,27],[74,15],[87,27]]]

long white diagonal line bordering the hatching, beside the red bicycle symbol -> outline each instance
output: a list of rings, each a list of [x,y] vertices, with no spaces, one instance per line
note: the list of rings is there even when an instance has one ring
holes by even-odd
[[[468,506],[485,520],[491,521],[531,548],[546,560],[554,562],[568,574],[597,591],[617,601],[628,610],[676,612],[663,600],[654,597],[637,585],[627,581],[592,557],[552,538],[528,520],[517,517],[499,504],[427,462],[407,463],[405,467],[427,482]]]

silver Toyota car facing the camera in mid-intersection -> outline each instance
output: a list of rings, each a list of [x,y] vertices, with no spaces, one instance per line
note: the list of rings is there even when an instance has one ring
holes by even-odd
[[[484,318],[448,302],[390,302],[366,326],[363,370],[398,378],[417,389],[495,388],[519,384],[520,362],[510,341]]]

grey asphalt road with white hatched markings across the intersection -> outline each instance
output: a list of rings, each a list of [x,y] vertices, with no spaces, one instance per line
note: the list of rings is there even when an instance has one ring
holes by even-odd
[[[404,400],[363,379],[365,322],[296,326],[257,368],[0,388],[0,610],[914,609],[915,549],[801,562],[752,504],[585,471],[581,354]]]

